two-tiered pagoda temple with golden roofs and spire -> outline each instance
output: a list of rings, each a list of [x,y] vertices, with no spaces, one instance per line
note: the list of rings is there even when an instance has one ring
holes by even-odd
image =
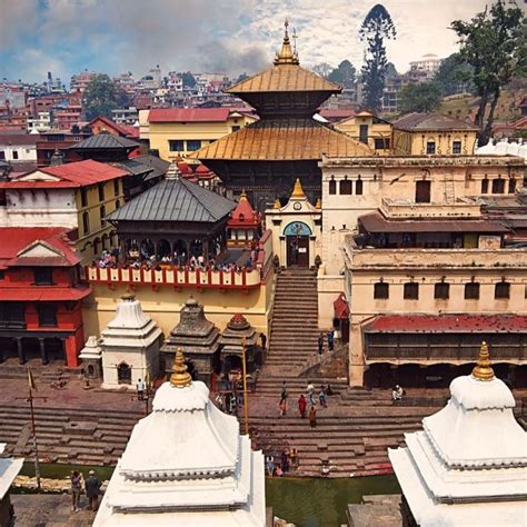
[[[287,202],[300,179],[308,199],[321,197],[318,162],[328,156],[371,156],[371,149],[312,116],[341,88],[300,67],[291,47],[288,23],[274,66],[227,90],[256,108],[260,119],[193,153],[221,179],[227,190],[249,200],[262,212],[275,199]]]

